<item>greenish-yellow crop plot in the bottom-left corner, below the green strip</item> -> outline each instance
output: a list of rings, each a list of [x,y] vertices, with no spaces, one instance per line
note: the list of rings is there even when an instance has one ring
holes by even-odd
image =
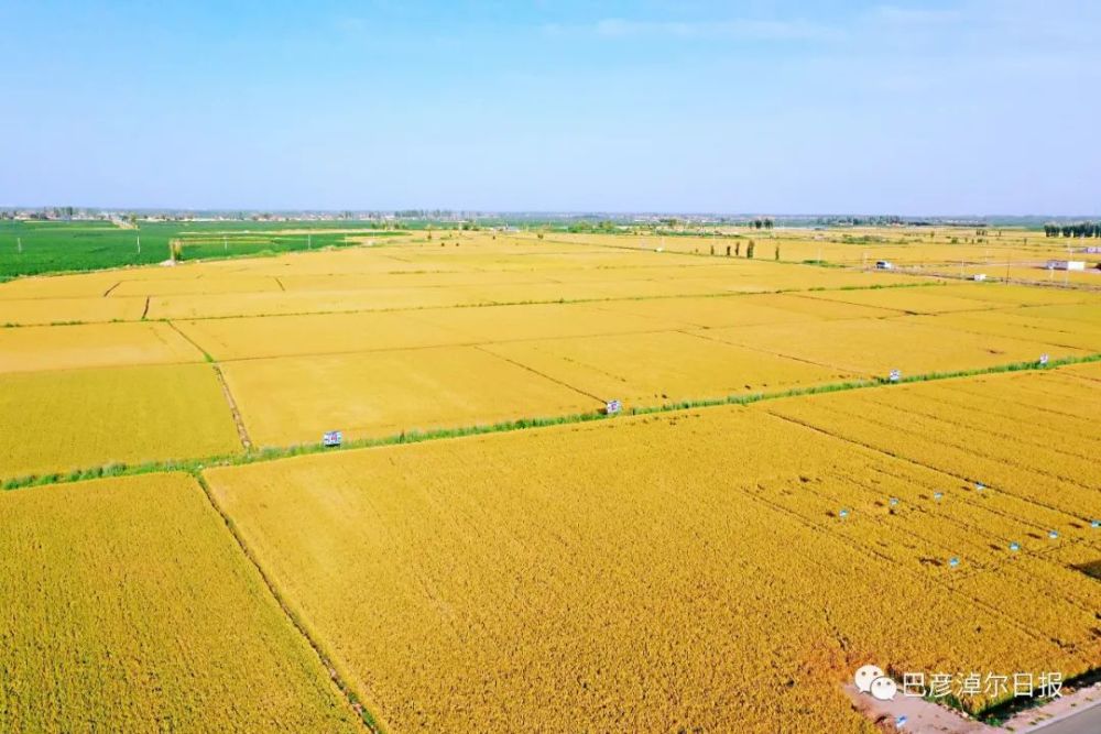
[[[0,494],[0,730],[358,730],[195,480]]]

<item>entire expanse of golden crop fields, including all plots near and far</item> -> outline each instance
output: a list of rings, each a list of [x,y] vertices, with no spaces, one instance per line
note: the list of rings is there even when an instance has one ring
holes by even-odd
[[[871,734],[869,662],[1095,672],[1092,274],[726,233],[0,283],[0,731]]]

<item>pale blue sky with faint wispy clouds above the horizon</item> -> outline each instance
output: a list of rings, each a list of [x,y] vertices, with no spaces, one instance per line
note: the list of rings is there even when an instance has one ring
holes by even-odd
[[[0,205],[1101,213],[1099,6],[0,0]]]

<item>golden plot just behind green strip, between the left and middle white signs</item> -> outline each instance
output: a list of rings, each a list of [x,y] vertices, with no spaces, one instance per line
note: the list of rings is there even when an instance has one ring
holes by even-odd
[[[602,403],[473,347],[227,362],[226,382],[261,446],[595,413]]]

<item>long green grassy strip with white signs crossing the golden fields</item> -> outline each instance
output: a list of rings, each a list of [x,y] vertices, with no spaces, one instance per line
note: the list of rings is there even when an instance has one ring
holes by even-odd
[[[1051,360],[1047,366],[1040,366],[1036,362],[1013,362],[977,370],[958,370],[955,372],[931,372],[922,375],[903,377],[898,383],[891,383],[886,379],[875,380],[851,380],[840,383],[825,383],[820,385],[809,385],[806,387],[793,387],[791,390],[775,393],[750,393],[748,395],[728,395],[727,397],[713,397],[696,401],[678,401],[675,403],[663,403],[659,405],[648,405],[632,407],[624,415],[652,415],[662,413],[675,413],[694,408],[718,407],[723,405],[752,405],[764,401],[774,401],[786,397],[804,397],[807,395],[820,395],[826,393],[837,393],[850,390],[863,390],[882,387],[890,388],[893,384],[909,384],[916,382],[934,382],[940,380],[955,380],[960,377],[974,377],[986,374],[1002,374],[1006,372],[1046,372],[1070,364],[1084,364],[1101,362],[1101,353],[1089,354],[1087,357],[1068,357]],[[18,490],[29,486],[41,486],[44,484],[58,484],[67,482],[79,482],[89,479],[100,479],[102,476],[129,476],[134,474],[149,474],[164,471],[198,471],[206,467],[236,467],[241,464],[259,463],[264,461],[275,461],[290,457],[305,456],[310,453],[323,453],[333,451],[348,451],[353,449],[367,449],[382,446],[395,446],[399,443],[421,443],[424,441],[436,441],[449,438],[462,438],[467,436],[482,436],[486,434],[511,432],[515,430],[526,430],[530,428],[545,428],[548,426],[573,425],[590,423],[595,420],[613,420],[615,416],[609,416],[598,412],[575,413],[544,418],[522,418],[517,420],[504,420],[494,424],[482,424],[473,426],[462,426],[458,428],[439,428],[426,431],[402,431],[390,436],[378,438],[363,438],[347,441],[338,449],[325,448],[320,443],[298,443],[293,446],[263,448],[249,453],[233,453],[228,456],[206,457],[201,459],[179,459],[173,461],[151,461],[143,464],[128,465],[121,463],[105,464],[90,469],[77,469],[67,474],[42,474],[32,476],[18,476],[8,479],[3,490]],[[794,421],[797,423],[797,421]],[[814,428],[811,426],[811,428]],[[827,431],[815,428],[819,432],[832,436]],[[854,442],[854,441],[853,441]],[[875,447],[868,447],[880,453],[887,453]],[[887,453],[887,456],[892,456]],[[905,457],[900,457],[905,459]],[[940,471],[931,467],[925,467],[919,462],[906,459],[911,463],[920,465],[933,471]],[[947,472],[941,472],[947,473]],[[960,478],[967,479],[967,478]]]

